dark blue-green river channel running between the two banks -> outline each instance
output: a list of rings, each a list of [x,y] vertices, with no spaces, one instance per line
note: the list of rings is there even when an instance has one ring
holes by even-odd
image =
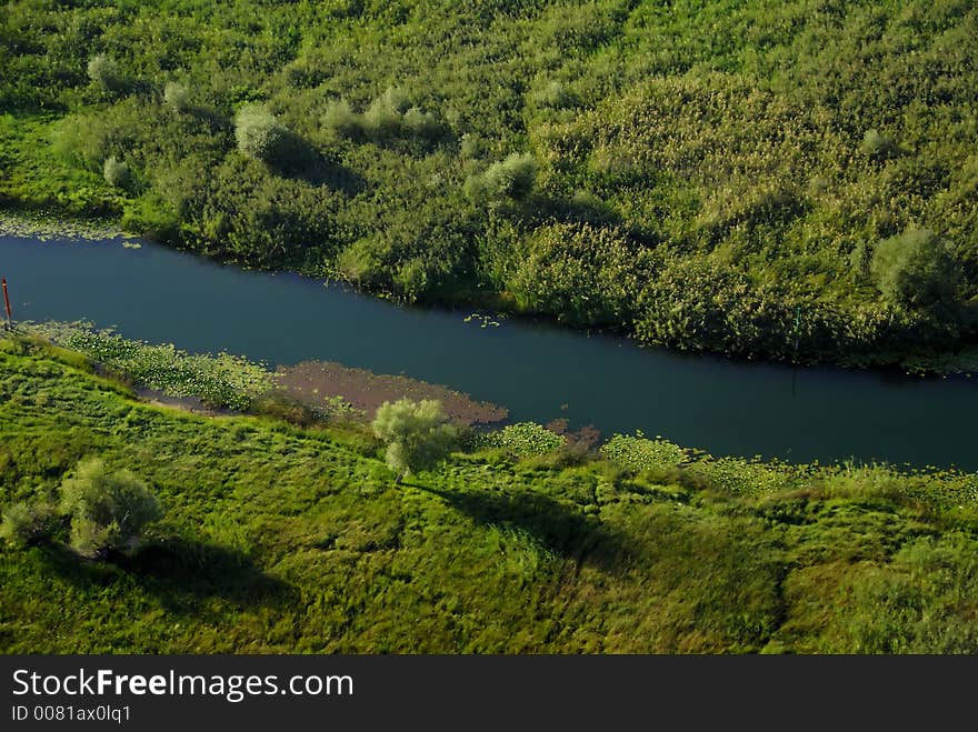
[[[405,309],[292,274],[152,244],[0,237],[20,320],[90,320],[129,338],[273,364],[340,361],[447,384],[513,420],[662,435],[716,455],[978,470],[978,382],[735,362],[470,311]]]

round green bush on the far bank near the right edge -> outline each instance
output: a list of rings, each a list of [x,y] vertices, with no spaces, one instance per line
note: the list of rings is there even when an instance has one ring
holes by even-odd
[[[911,308],[951,304],[961,278],[948,242],[928,229],[881,241],[870,272],[887,300]]]

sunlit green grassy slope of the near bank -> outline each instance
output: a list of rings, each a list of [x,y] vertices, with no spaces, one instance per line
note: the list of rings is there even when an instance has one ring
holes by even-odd
[[[455,452],[396,489],[385,448],[140,403],[0,340],[4,535],[127,470],[167,509],[104,562],[44,510],[0,542],[0,652],[978,652],[978,475],[618,435],[572,463]]]

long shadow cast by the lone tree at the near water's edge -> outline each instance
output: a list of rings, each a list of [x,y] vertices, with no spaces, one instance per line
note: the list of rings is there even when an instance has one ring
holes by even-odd
[[[540,493],[445,491],[418,483],[406,485],[438,495],[480,524],[521,529],[549,551],[579,564],[592,564],[610,572],[622,569],[639,555],[631,541],[609,531],[599,519]]]

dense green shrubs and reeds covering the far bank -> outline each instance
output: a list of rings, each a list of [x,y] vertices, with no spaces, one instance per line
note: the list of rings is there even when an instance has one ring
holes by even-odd
[[[965,0],[17,0],[0,204],[647,343],[949,354],[976,64]]]

